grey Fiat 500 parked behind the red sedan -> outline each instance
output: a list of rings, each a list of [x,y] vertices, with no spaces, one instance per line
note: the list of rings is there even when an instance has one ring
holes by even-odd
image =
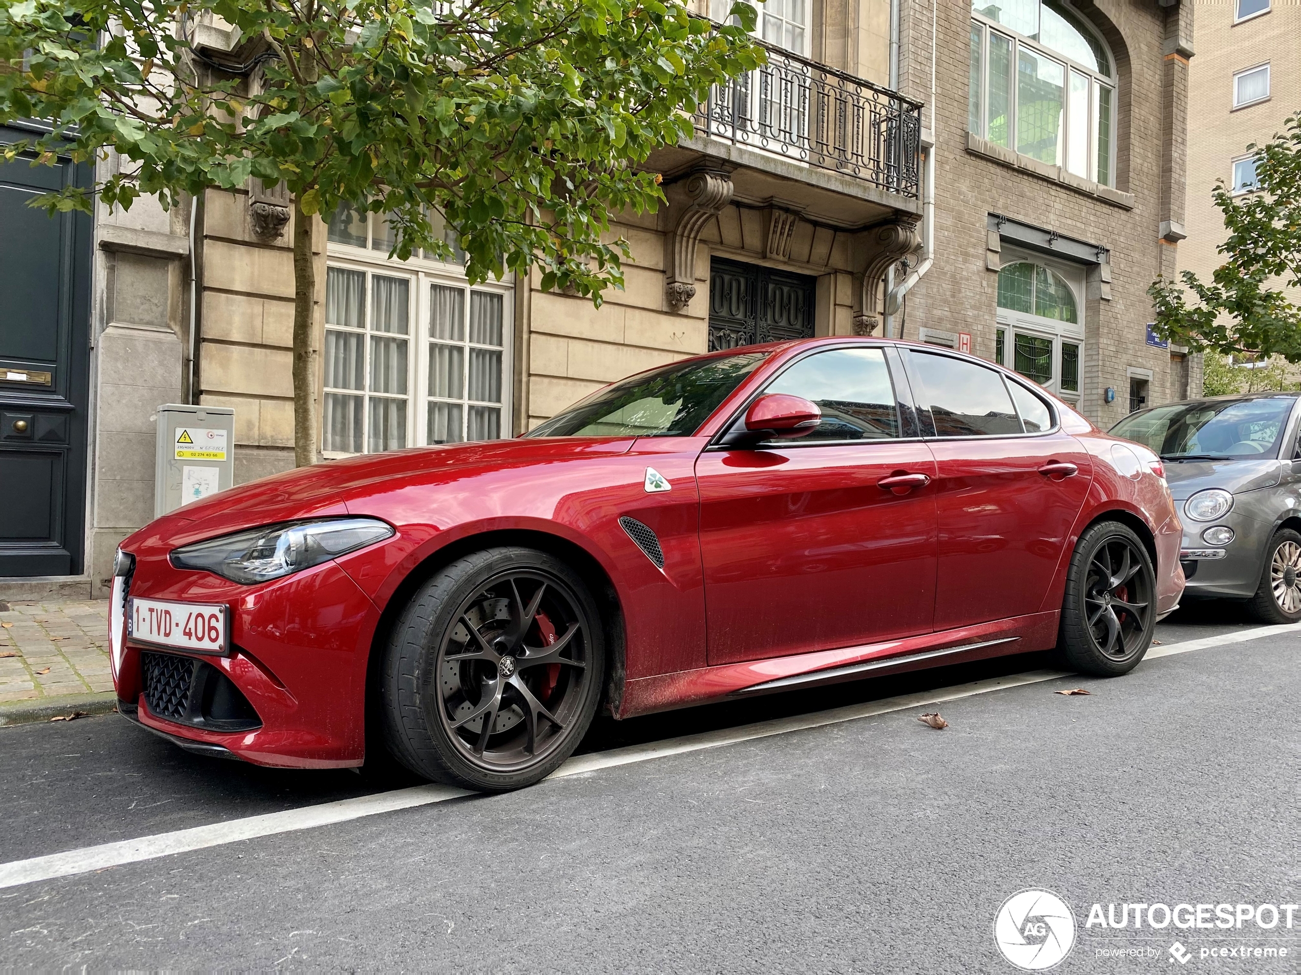
[[[1301,620],[1301,407],[1296,393],[1192,399],[1111,428],[1160,455],[1184,523],[1184,598],[1246,599]]]

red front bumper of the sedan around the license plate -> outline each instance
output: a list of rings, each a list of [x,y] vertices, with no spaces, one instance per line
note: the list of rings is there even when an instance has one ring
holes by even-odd
[[[338,563],[245,586],[209,572],[176,569],[161,546],[134,555],[124,597],[229,606],[232,651],[216,656],[139,646],[126,637],[121,614],[114,614],[113,681],[127,718],[200,754],[293,768],[362,764],[366,670],[380,614]],[[163,654],[178,664],[202,660],[190,690],[177,692],[194,701],[177,705],[173,697],[151,707],[144,654]],[[225,724],[206,719],[200,675],[209,684],[228,680],[256,716]]]

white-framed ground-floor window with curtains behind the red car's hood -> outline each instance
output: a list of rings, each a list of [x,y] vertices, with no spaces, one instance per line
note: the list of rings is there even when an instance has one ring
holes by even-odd
[[[459,263],[392,246],[381,214],[329,221],[324,454],[510,437],[510,282],[471,287]]]

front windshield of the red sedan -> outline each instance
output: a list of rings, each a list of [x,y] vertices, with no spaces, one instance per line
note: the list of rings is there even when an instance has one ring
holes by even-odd
[[[690,437],[768,358],[691,359],[597,390],[528,437]]]

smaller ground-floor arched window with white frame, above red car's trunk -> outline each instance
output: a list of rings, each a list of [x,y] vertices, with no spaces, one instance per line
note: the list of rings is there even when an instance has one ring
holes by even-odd
[[[1030,260],[1015,260],[998,272],[995,361],[1071,403],[1080,399],[1080,283]]]

